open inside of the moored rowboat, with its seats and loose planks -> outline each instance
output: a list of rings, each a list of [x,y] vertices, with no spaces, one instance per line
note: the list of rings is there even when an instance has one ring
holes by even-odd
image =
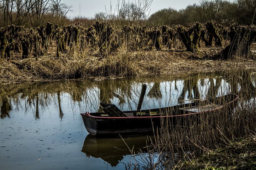
[[[238,96],[229,94],[216,98],[208,98],[207,100],[196,100],[196,102],[176,106],[133,111],[121,111],[114,104],[100,103],[104,112],[90,113],[90,115],[97,117],[152,117],[211,112],[215,109],[222,108],[225,104],[233,101],[236,97]]]

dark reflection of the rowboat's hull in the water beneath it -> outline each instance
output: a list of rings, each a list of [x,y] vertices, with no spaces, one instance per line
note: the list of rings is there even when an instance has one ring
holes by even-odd
[[[126,155],[146,153],[153,140],[154,136],[95,138],[88,134],[81,151],[88,158],[101,158],[115,167]]]

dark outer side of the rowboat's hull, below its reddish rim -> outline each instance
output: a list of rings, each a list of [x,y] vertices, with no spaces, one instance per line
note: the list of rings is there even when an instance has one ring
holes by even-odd
[[[198,121],[196,114],[152,117],[94,117],[81,114],[86,130],[94,136],[152,134],[161,124],[183,125],[185,119]]]

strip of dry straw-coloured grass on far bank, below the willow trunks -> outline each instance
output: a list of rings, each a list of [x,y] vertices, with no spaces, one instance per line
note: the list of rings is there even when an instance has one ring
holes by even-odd
[[[16,54],[11,61],[1,61],[2,84],[45,80],[88,79],[95,77],[168,77],[195,72],[254,69],[256,62],[241,57],[219,60],[221,48],[201,49],[197,53],[187,51],[133,51],[117,53],[105,58],[85,53],[54,53],[36,60],[21,60]]]

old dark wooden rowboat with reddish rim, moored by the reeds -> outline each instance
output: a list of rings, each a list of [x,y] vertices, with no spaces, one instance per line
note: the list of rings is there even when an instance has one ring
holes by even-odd
[[[198,121],[201,115],[217,111],[226,113],[233,110],[237,102],[237,95],[228,94],[188,104],[132,111],[121,111],[113,104],[101,103],[105,112],[81,113],[81,116],[91,135],[151,134],[166,122],[169,126],[184,125],[190,120]]]

